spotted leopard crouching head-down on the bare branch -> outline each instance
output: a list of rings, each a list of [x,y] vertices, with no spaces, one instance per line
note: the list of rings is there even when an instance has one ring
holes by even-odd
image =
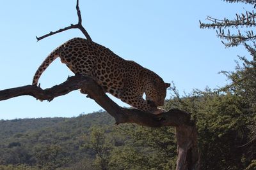
[[[84,38],[72,38],[53,50],[36,70],[32,85],[38,85],[42,73],[58,57],[74,74],[92,76],[104,92],[133,108],[154,114],[164,111],[159,106],[164,105],[170,83],[150,69]],[[86,94],[86,89],[80,92]]]

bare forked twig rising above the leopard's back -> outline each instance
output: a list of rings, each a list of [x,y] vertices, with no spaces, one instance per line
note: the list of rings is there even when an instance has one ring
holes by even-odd
[[[40,41],[41,39],[44,39],[48,36],[52,36],[52,35],[57,34],[59,32],[66,31],[68,29],[79,29],[80,31],[83,32],[86,39],[88,39],[89,41],[92,41],[92,38],[90,37],[90,35],[88,34],[86,29],[84,29],[84,27],[82,25],[81,11],[79,9],[79,0],[77,0],[77,2],[76,2],[76,11],[77,11],[77,17],[78,17],[78,23],[76,25],[71,24],[70,26],[65,27],[63,29],[59,29],[58,31],[54,31],[54,32],[51,31],[49,34],[45,34],[44,36],[40,36],[39,38],[36,36],[37,41]]]

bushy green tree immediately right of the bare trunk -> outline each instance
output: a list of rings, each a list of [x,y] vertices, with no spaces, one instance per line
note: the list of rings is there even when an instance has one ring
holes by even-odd
[[[175,87],[173,87],[175,90]],[[168,108],[193,113],[198,128],[202,169],[245,169],[252,160],[243,145],[250,141],[250,111],[232,91],[195,90],[184,97],[175,90]]]

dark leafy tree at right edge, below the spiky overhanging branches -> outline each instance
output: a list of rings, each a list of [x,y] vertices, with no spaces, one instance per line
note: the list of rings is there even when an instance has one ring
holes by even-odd
[[[236,71],[223,72],[232,81],[223,90],[230,89],[232,93],[240,96],[246,103],[243,113],[245,117],[248,117],[247,125],[250,129],[250,139],[244,148],[247,150],[246,157],[253,161],[256,159],[256,46],[252,47],[247,44],[245,46],[253,59],[248,60],[245,57],[240,57],[243,61],[242,67],[237,64]]]

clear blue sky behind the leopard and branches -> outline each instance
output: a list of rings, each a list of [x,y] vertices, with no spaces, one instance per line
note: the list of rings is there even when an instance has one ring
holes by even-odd
[[[54,48],[70,38],[83,37],[74,29],[36,42],[35,36],[76,24],[75,6],[76,0],[1,2],[0,89],[30,84]],[[244,4],[221,0],[93,0],[81,1],[80,8],[83,25],[93,41],[155,71],[166,82],[174,81],[180,92],[225,85],[225,76],[218,72],[234,70],[237,55],[248,55],[243,46],[225,48],[214,30],[200,29],[198,22],[204,22],[207,15],[234,18],[235,13],[251,9]],[[40,78],[41,87],[52,87],[68,75],[73,74],[58,59]],[[74,117],[100,109],[76,90],[51,103],[29,96],[0,101],[0,119]]]

